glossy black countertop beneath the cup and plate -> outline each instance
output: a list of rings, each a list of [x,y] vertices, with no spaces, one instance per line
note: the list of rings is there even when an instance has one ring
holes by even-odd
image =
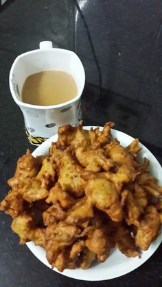
[[[52,40],[76,51],[86,71],[85,125],[114,121],[138,137],[162,164],[162,2],[158,0],[16,0],[0,9],[0,200],[27,148],[23,116],[10,95],[14,58]],[[104,88],[104,89],[102,89]],[[139,269],[104,282],[69,279],[51,271],[10,229],[0,212],[0,287],[162,286],[162,247]]]

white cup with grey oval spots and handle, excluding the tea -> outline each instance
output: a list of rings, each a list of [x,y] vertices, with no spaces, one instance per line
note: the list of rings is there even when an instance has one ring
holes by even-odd
[[[21,100],[25,79],[41,71],[63,71],[76,82],[78,95],[59,105],[31,105]],[[40,42],[40,49],[19,55],[10,70],[10,91],[23,112],[25,131],[33,145],[40,145],[56,134],[58,127],[68,123],[76,126],[82,119],[80,97],[84,89],[85,73],[82,62],[73,51],[52,48],[52,42]]]

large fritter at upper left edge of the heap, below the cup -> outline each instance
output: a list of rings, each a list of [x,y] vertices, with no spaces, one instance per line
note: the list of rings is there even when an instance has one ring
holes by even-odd
[[[55,166],[51,158],[34,158],[30,151],[19,159],[14,177],[8,180],[21,197],[28,202],[45,199],[49,194],[49,184],[54,182]]]

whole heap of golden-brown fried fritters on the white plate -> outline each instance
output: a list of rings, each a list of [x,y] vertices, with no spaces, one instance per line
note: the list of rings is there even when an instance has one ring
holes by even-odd
[[[162,187],[149,160],[138,161],[139,140],[122,147],[111,139],[113,125],[60,127],[49,155],[34,158],[27,150],[18,160],[0,202],[20,244],[43,247],[60,272],[104,262],[113,247],[140,258],[159,235]]]

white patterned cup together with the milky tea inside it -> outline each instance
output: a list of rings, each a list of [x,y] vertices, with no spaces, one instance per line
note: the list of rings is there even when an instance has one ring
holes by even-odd
[[[25,132],[33,145],[56,134],[62,125],[78,125],[82,119],[80,97],[85,73],[73,51],[52,48],[40,42],[40,49],[19,55],[10,70],[10,91],[23,112]]]

